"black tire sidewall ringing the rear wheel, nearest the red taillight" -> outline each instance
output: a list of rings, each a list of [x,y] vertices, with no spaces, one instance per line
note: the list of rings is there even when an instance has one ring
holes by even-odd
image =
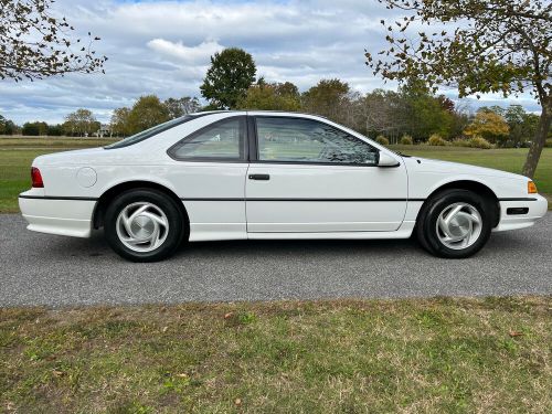
[[[136,202],[150,202],[162,210],[169,222],[164,242],[151,252],[135,252],[119,240],[116,222],[127,205]],[[164,193],[149,189],[129,190],[117,197],[107,208],[104,233],[112,248],[121,257],[132,262],[156,262],[170,256],[179,247],[184,235],[184,221],[176,202]]]

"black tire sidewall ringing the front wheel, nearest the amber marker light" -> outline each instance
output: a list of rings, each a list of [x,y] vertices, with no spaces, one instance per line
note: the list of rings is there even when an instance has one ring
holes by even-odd
[[[437,220],[439,214],[450,204],[464,202],[473,205],[481,216],[481,234],[479,238],[469,247],[454,250],[445,246],[437,235]],[[487,243],[491,232],[491,216],[485,199],[468,190],[450,190],[439,194],[429,205],[426,220],[424,222],[424,233],[426,243],[438,256],[447,258],[464,258],[477,253]]]

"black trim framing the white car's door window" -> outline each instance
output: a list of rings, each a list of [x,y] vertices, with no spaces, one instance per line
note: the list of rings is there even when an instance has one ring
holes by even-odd
[[[270,116],[270,115],[250,115],[248,116],[250,118],[253,118],[253,127],[254,127],[254,136],[253,136],[253,145],[250,144],[250,162],[251,163],[266,163],[266,164],[270,164],[270,163],[275,163],[275,164],[291,164],[291,166],[333,166],[333,167],[379,167],[378,163],[379,163],[379,160],[380,160],[380,152],[381,150],[378,148],[378,147],[374,147],[372,145],[370,145],[369,142],[365,142],[363,141],[362,139],[360,139],[359,137],[355,137],[351,134],[349,134],[348,131],[339,128],[339,127],[336,127],[333,125],[330,125],[328,123],[323,123],[319,119],[311,119],[311,118],[306,118],[306,117],[301,117],[301,116]],[[323,161],[277,161],[277,160],[262,160],[259,159],[258,157],[258,134],[257,134],[257,118],[270,118],[270,119],[301,119],[301,120],[311,120],[314,123],[318,123],[318,124],[323,124],[323,125],[327,125],[331,128],[335,128],[343,134],[347,134],[349,137],[351,138],[354,138],[354,139],[358,139],[359,141],[363,142],[363,144],[367,144],[369,146],[371,146],[376,152],[376,160],[375,160],[375,163],[373,164],[370,164],[370,163],[359,163],[359,162],[323,162]],[[400,163],[397,164],[397,167],[400,166]]]

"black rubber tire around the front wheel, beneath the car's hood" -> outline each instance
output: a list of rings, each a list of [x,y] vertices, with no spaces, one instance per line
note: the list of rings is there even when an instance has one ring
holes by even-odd
[[[475,242],[464,248],[450,248],[439,238],[437,221],[439,214],[455,203],[466,203],[477,210],[480,215],[480,233]],[[435,256],[446,258],[469,257],[481,250],[489,240],[493,216],[490,201],[469,190],[444,190],[427,200],[420,211],[416,223],[416,236],[420,244]]]

